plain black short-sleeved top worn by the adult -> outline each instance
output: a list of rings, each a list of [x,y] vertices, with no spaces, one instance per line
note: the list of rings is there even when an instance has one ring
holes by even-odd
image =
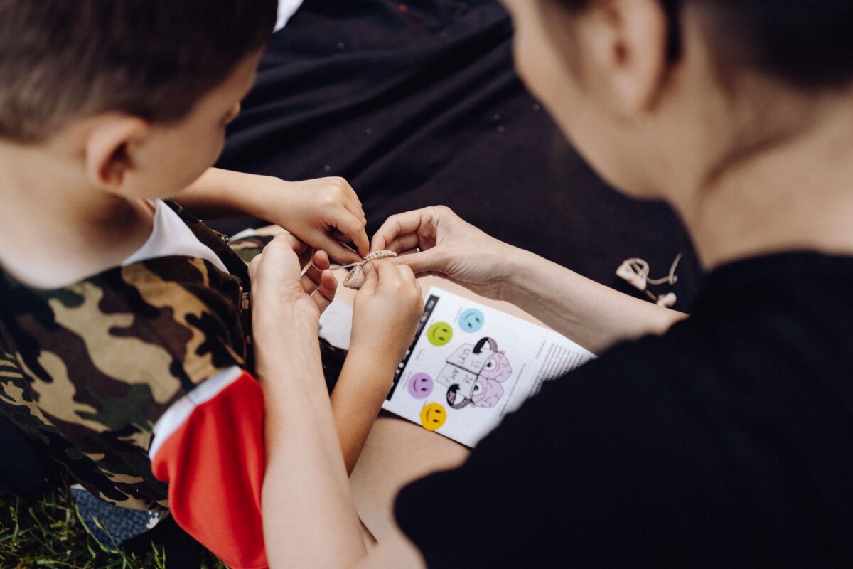
[[[403,489],[430,567],[853,566],[853,258],[714,271]]]

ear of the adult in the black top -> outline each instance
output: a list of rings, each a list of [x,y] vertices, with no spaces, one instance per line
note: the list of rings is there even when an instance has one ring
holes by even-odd
[[[582,27],[589,70],[614,110],[630,119],[653,110],[667,71],[669,16],[661,0],[593,3]]]

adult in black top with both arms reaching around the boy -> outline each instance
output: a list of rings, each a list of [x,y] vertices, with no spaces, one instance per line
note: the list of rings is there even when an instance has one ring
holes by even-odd
[[[614,186],[667,200],[711,274],[683,319],[447,209],[390,218],[375,249],[419,247],[398,262],[603,353],[404,489],[402,533],[368,554],[305,358],[316,308],[274,241],[252,267],[270,306],[258,358],[303,360],[264,378],[273,564],[850,566],[853,4],[505,3],[519,70],[566,136]]]

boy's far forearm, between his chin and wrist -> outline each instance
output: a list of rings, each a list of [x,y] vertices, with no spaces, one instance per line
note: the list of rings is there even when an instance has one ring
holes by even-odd
[[[276,177],[208,168],[175,196],[199,218],[264,218],[264,195],[281,183]]]

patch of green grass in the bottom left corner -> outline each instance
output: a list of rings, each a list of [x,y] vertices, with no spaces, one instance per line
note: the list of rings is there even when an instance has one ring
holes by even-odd
[[[153,545],[142,557],[105,551],[78,520],[71,492],[57,490],[36,502],[0,496],[0,567],[165,569],[165,554]],[[211,555],[204,567],[226,569]]]

